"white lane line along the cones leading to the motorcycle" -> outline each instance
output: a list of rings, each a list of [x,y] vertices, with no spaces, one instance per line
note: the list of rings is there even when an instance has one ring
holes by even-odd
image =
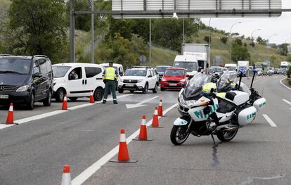
[[[176,106],[177,106],[177,103],[174,104],[173,106],[167,108],[166,110],[164,110],[164,114],[168,113],[170,110],[172,110]],[[152,121],[153,121],[153,119],[150,120],[149,122],[147,122],[146,125],[147,126],[150,126],[152,124]],[[127,144],[129,144],[132,141],[132,139],[136,138],[136,136],[138,136],[138,134],[139,134],[139,129],[136,130],[136,132],[134,132],[134,134],[131,134],[131,136],[129,136],[127,138]],[[100,158],[95,163],[93,163],[93,165],[91,165],[86,170],[84,170],[84,172],[82,172],[77,177],[75,177],[75,179],[72,180],[72,185],[83,184],[84,181],[86,181],[87,179],[89,179],[103,165],[105,165],[106,162],[108,162],[111,158],[113,158],[118,153],[118,149],[119,149],[119,145],[115,146],[115,148],[113,148],[110,152],[106,153],[102,158]]]

